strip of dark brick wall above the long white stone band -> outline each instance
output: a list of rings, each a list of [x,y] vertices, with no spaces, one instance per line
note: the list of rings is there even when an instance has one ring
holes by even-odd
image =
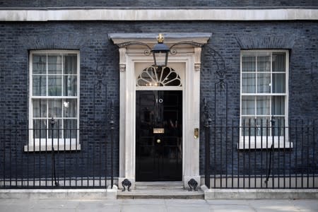
[[[67,6],[121,6],[121,7],[180,7],[180,6],[229,6],[229,7],[247,7],[247,6],[318,6],[318,2],[315,0],[177,0],[177,1],[155,1],[155,0],[122,0],[122,1],[110,1],[110,0],[81,0],[81,1],[61,1],[61,0],[1,0],[0,6],[5,7],[67,7]]]

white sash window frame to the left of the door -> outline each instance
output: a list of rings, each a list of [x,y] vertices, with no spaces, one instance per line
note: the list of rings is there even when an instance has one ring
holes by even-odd
[[[63,95],[63,88],[61,91],[61,96],[33,96],[33,55],[34,54],[76,54],[77,55],[77,90],[76,90],[76,96],[64,96]],[[63,60],[61,61],[61,69],[63,76]],[[48,69],[48,68],[47,68]],[[47,75],[47,73],[46,73]],[[61,79],[64,80],[63,78]],[[62,86],[63,87],[63,86]],[[77,100],[77,114],[76,114],[76,120],[77,120],[77,130],[76,130],[76,138],[75,139],[65,139],[65,138],[59,138],[59,139],[34,139],[33,138],[33,99],[76,99]],[[58,49],[52,49],[52,50],[32,50],[29,54],[29,136],[28,136],[28,144],[24,146],[24,151],[52,151],[54,148],[54,151],[79,151],[81,150],[81,144],[79,143],[79,102],[80,102],[80,52],[76,50],[58,50]],[[47,106],[48,107],[48,106]],[[67,119],[65,117],[62,117],[61,119]],[[57,119],[55,119],[57,120]],[[48,129],[49,130],[49,129]],[[44,142],[44,143],[43,143]],[[53,148],[52,148],[53,144]]]

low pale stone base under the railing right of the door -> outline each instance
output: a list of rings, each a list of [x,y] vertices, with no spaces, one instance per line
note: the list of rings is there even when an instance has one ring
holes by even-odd
[[[208,189],[204,199],[318,199],[318,189]]]

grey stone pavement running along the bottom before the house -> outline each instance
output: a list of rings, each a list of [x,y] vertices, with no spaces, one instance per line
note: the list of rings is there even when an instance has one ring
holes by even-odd
[[[103,211],[103,212],[249,212],[318,211],[318,200],[204,200],[204,199],[0,199],[0,211]]]

